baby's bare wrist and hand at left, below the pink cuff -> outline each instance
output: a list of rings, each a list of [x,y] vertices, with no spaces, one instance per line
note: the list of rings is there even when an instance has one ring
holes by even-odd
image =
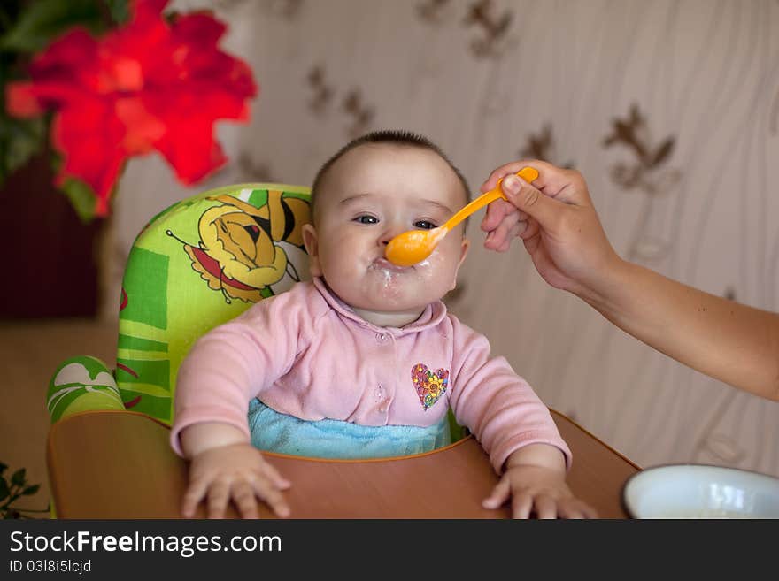
[[[208,517],[222,518],[232,499],[243,518],[257,518],[258,498],[277,516],[289,516],[281,493],[289,481],[266,463],[241,430],[230,424],[191,424],[181,431],[181,450],[190,460],[183,516],[194,516],[205,499]]]

